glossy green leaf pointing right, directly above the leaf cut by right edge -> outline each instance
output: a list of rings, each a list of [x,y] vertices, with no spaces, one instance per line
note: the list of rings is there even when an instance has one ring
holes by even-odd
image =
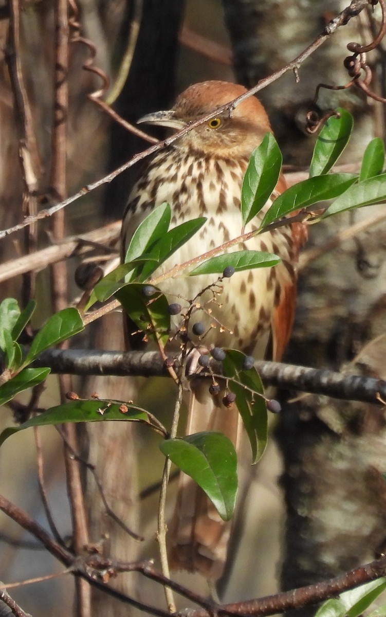
[[[271,205],[266,213],[261,228],[266,227],[277,218],[284,217],[295,210],[317,204],[319,201],[334,199],[348,189],[358,176],[352,173],[331,173],[324,176],[308,178],[290,186]]]

